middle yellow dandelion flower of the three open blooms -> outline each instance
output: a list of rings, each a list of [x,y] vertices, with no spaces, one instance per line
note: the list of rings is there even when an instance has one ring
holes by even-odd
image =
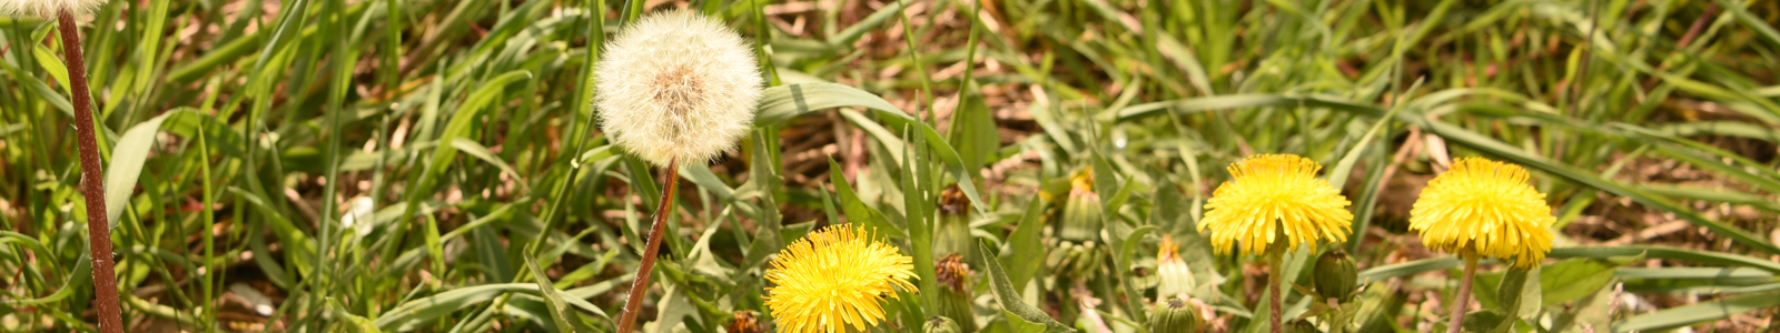
[[[1290,250],[1315,246],[1319,239],[1347,241],[1349,202],[1315,177],[1321,168],[1294,154],[1260,154],[1230,165],[1235,179],[1212,193],[1200,230],[1210,230],[1218,253],[1230,253],[1237,241],[1255,255],[1274,243]]]

